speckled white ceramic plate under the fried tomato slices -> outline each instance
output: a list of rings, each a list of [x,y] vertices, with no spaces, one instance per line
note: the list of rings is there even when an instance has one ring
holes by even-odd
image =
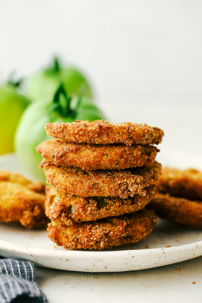
[[[196,155],[161,151],[157,160],[163,165],[202,169],[199,167],[202,158]],[[24,173],[14,154],[0,157],[0,169]],[[26,230],[4,223],[0,224],[0,230],[0,255],[64,270],[129,271],[168,265],[202,255],[202,231],[183,228],[160,219],[145,240],[104,251],[76,251],[56,247],[47,237],[47,231]]]

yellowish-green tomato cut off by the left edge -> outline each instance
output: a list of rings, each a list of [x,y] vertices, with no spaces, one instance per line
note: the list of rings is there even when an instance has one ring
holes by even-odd
[[[19,119],[29,104],[16,88],[0,85],[0,154],[14,151],[14,135]]]

